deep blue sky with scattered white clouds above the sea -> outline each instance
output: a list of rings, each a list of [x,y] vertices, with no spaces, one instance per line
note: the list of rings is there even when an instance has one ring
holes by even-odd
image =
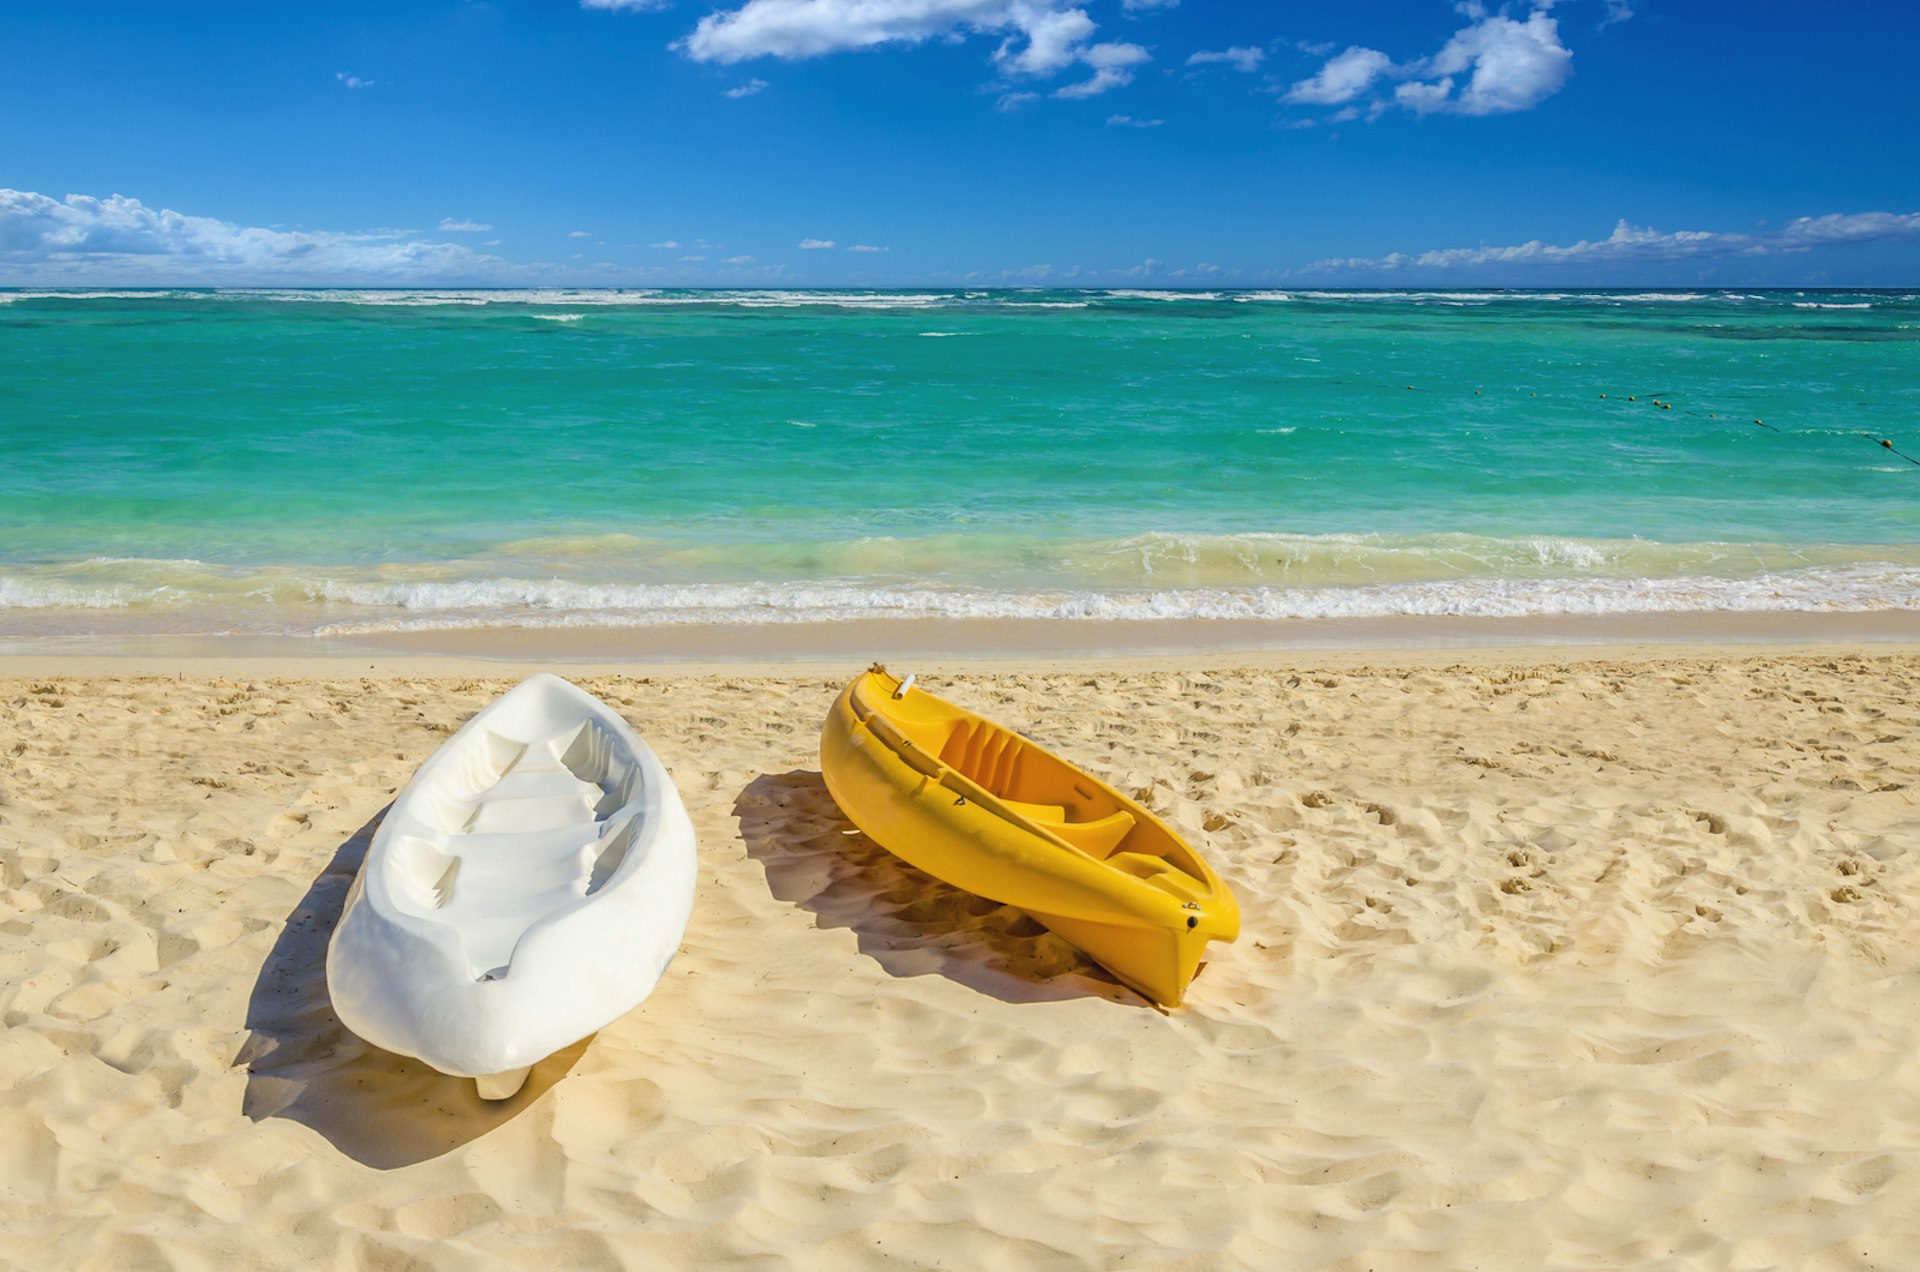
[[[0,284],[1912,286],[1916,54],[1910,0],[0,0]]]

